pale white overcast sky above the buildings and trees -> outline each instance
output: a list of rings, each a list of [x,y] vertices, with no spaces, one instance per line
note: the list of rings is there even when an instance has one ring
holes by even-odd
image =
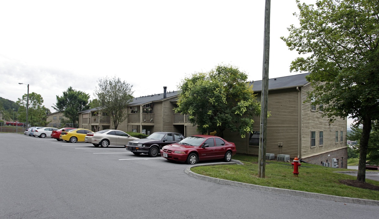
[[[296,11],[295,0],[271,0],[269,78],[300,73],[279,38]],[[100,78],[116,76],[139,97],[219,64],[262,80],[264,15],[265,0],[0,0],[0,97],[17,101],[29,84],[55,112],[69,86],[92,99]]]

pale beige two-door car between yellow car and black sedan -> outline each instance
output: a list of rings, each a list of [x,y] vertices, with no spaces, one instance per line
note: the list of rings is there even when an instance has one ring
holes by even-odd
[[[101,130],[95,133],[89,132],[85,137],[85,142],[92,143],[95,147],[101,146],[103,148],[109,145],[127,145],[129,141],[139,138],[132,137],[127,133],[119,130]]]

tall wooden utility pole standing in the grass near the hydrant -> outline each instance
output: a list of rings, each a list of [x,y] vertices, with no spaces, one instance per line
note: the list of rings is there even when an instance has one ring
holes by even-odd
[[[267,102],[268,102],[268,63],[270,55],[270,5],[265,3],[265,37],[263,39],[263,75],[261,96],[261,118],[258,156],[258,177],[265,178],[266,169],[266,136],[267,136]]]

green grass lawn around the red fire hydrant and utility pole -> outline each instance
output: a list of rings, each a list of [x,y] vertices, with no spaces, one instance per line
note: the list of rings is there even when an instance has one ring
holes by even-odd
[[[258,157],[236,154],[233,156],[233,159],[240,160],[244,165],[199,166],[191,168],[191,171],[219,179],[267,187],[379,200],[379,190],[357,188],[342,184],[340,180],[357,179],[356,176],[334,173],[335,171],[351,171],[348,169],[336,169],[310,163],[301,163],[299,175],[295,177],[292,173],[293,166],[291,163],[266,160],[265,178],[258,178]],[[366,184],[379,187],[379,181],[375,180],[366,179]]]

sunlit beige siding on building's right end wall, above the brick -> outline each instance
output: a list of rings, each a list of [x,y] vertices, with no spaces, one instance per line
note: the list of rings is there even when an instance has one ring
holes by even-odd
[[[302,102],[305,101],[307,92],[311,90],[310,86],[304,86],[301,91]],[[328,151],[346,148],[346,119],[337,118],[334,123],[329,123],[327,117],[322,118],[321,112],[311,110],[309,102],[302,103],[302,141],[301,141],[301,158],[311,157],[323,154]],[[311,147],[310,134],[316,132],[316,145]],[[319,145],[319,132],[323,131],[323,145]],[[338,142],[335,143],[335,131],[338,131]],[[340,142],[340,131],[343,131],[343,142]]]

